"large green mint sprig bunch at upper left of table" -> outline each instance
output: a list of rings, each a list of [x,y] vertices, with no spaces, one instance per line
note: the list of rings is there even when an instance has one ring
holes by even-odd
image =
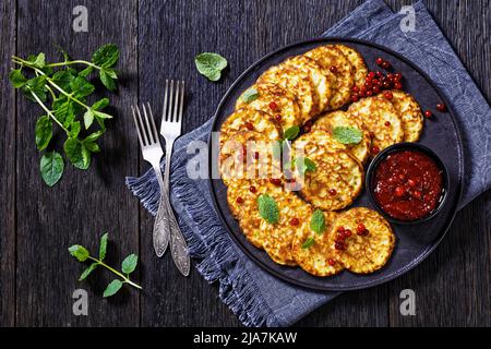
[[[118,79],[113,67],[119,59],[119,49],[113,44],[97,49],[91,61],[72,60],[65,51],[60,51],[63,60],[53,63],[47,62],[43,52],[26,59],[14,56],[12,62],[17,69],[9,74],[12,86],[43,109],[36,121],[35,140],[37,149],[44,154],[39,163],[40,174],[49,186],[61,179],[64,170],[63,158],[51,144],[57,130],[65,134],[64,156],[74,167],[87,169],[92,154],[100,152],[96,141],[106,131],[105,121],[112,116],[101,111],[109,105],[108,98],[88,103],[95,92],[88,80],[91,73],[97,71],[100,82],[109,91],[116,89]]]

